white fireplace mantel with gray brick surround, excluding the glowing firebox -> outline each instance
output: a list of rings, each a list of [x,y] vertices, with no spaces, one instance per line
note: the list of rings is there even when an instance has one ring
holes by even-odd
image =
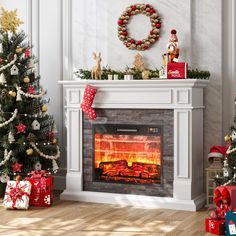
[[[98,89],[94,101],[96,120],[87,119],[80,108],[88,83]],[[203,95],[208,83],[199,79],[62,81],[67,174],[66,190],[61,198],[142,208],[195,211],[202,207],[205,202]],[[160,125],[160,183],[95,180],[94,124]],[[104,138],[107,134],[100,135]],[[132,164],[127,161],[125,167],[131,169]],[[131,173],[132,181],[142,177]],[[145,180],[144,175],[142,179]]]

